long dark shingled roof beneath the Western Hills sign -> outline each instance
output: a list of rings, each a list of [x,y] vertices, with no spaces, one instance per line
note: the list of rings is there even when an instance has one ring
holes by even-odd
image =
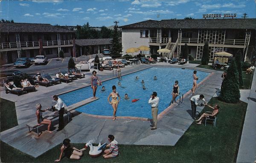
[[[256,19],[147,20],[120,28],[256,29]]]

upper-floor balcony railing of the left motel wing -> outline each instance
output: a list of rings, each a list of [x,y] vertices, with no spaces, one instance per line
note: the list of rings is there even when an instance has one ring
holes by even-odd
[[[43,46],[54,46],[58,45],[58,41],[42,41]],[[73,40],[60,40],[60,45],[73,45]],[[0,49],[12,49],[12,48],[29,48],[29,47],[39,47],[39,41],[26,41],[20,42],[20,45],[17,42],[1,42]]]

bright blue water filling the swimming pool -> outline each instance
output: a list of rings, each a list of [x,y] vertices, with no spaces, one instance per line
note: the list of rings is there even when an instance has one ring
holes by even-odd
[[[193,71],[191,69],[181,69],[172,67],[151,67],[145,70],[138,71],[122,76],[122,80],[111,79],[102,83],[106,90],[101,91],[102,86],[98,86],[96,97],[99,100],[93,101],[89,104],[81,106],[76,110],[79,112],[85,112],[93,115],[113,115],[113,108],[108,103],[108,95],[112,92],[112,86],[116,85],[116,91],[119,93],[121,100],[118,105],[116,116],[134,116],[151,118],[151,107],[148,104],[148,99],[152,92],[157,92],[157,96],[160,98],[160,104],[158,107],[158,113],[165,110],[170,101],[172,100],[172,88],[175,80],[179,81],[180,93],[185,94],[192,88],[193,84]],[[209,73],[203,71],[197,71],[198,82],[201,82]],[[136,81],[136,76],[139,80]],[[154,76],[157,76],[157,80],[154,80]],[[100,76],[99,76],[100,77]],[[144,80],[146,90],[142,89],[141,81]],[[118,86],[118,82],[121,82],[121,86]],[[128,94],[130,100],[124,99],[125,93]],[[59,97],[67,104],[75,104],[84,99],[93,96],[91,87],[84,87],[79,90],[75,90],[69,93],[60,95]],[[134,98],[140,98],[137,102],[131,102]]]

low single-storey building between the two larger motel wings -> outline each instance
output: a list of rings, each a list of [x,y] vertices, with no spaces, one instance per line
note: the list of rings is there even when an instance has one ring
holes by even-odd
[[[76,39],[76,56],[102,53],[103,49],[111,49],[109,39]]]

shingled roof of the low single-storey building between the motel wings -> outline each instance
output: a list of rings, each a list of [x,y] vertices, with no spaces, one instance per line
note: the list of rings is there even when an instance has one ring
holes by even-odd
[[[76,45],[89,46],[89,45],[108,45],[111,44],[112,39],[76,39]]]

